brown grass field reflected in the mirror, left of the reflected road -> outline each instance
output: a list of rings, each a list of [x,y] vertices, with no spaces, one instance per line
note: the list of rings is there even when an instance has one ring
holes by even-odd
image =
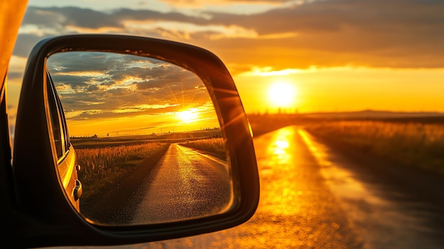
[[[104,148],[77,148],[75,150],[77,163],[82,167],[79,179],[84,186],[82,199],[88,199],[94,192],[100,192],[101,189],[118,182],[128,170],[165,150],[167,145],[167,143],[143,143]]]

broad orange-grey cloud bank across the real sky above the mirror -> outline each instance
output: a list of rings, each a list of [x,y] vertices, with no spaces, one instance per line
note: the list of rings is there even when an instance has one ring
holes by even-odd
[[[307,68],[444,67],[444,2],[419,0],[294,1],[254,14],[74,7],[30,7],[23,27],[48,35],[83,30],[186,41],[233,65]],[[23,28],[23,32],[26,28]],[[38,35],[21,33],[14,54],[25,56]],[[116,77],[118,74],[116,72]],[[138,82],[143,82],[140,80]],[[142,87],[143,83],[140,83]]]

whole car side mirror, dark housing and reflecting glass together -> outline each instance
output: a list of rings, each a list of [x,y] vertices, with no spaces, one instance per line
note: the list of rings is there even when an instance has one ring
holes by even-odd
[[[218,152],[195,145],[210,139]],[[89,149],[112,162],[120,154],[107,150],[145,153],[97,173],[105,162],[89,163]],[[160,165],[166,155],[182,159]],[[131,170],[118,175],[123,167]],[[209,233],[247,221],[259,199],[250,126],[223,62],[192,45],[126,35],[64,35],[35,45],[18,106],[13,175],[18,207],[33,219],[29,234],[44,234],[36,241],[23,239],[25,232],[16,242],[24,247]],[[99,184],[110,175],[112,184]],[[135,178],[136,187],[123,187]],[[163,185],[155,187],[158,178]],[[117,192],[138,201],[115,199]],[[145,192],[155,194],[135,197]],[[133,218],[142,199],[146,209]],[[116,206],[126,218],[115,218]]]

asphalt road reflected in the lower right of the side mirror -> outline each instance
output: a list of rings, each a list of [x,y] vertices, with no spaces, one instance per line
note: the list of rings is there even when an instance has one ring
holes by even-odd
[[[231,201],[229,179],[226,162],[174,143],[140,187],[132,223],[217,214]]]

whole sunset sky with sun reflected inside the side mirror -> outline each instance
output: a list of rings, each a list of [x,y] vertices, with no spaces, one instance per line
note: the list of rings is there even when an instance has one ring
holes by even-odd
[[[110,52],[62,52],[47,60],[70,135],[136,135],[218,128],[196,74],[169,62]]]

